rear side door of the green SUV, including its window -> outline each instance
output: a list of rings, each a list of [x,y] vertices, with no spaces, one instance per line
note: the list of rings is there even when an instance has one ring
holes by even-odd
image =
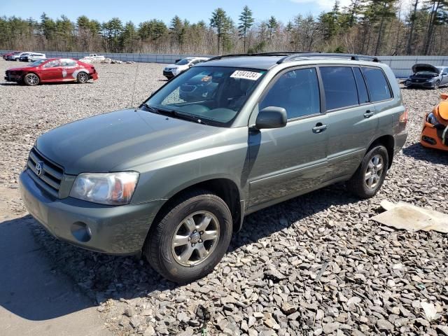
[[[320,66],[328,118],[326,181],[353,174],[377,132],[363,72],[357,66]]]

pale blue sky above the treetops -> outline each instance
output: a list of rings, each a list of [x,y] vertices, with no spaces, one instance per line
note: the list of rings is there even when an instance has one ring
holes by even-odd
[[[253,11],[255,21],[267,20],[274,15],[283,23],[292,20],[295,15],[318,15],[330,10],[334,0],[0,0],[0,16],[17,16],[38,19],[43,12],[56,19],[66,15],[75,21],[80,15],[104,22],[111,18],[120,18],[122,22],[139,22],[157,18],[169,24],[174,15],[190,22],[204,20],[209,22],[211,12],[222,7],[237,22],[244,5]],[[340,0],[342,6],[349,0]]]

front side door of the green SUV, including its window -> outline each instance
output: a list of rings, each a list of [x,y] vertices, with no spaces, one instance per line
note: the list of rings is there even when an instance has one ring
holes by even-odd
[[[328,136],[317,69],[279,73],[258,103],[286,109],[286,127],[249,132],[249,207],[278,202],[320,186]]]

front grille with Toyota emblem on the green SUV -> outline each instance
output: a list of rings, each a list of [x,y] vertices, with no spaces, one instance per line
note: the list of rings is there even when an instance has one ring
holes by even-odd
[[[38,186],[54,197],[59,196],[59,188],[64,175],[62,167],[55,165],[41,153],[38,153],[36,148],[32,148],[29,152],[28,167],[31,170],[29,176]]]

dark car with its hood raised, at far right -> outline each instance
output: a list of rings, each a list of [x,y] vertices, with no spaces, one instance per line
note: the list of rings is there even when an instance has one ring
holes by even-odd
[[[427,87],[438,89],[448,85],[448,67],[430,64],[414,64],[412,75],[405,81],[407,87]]]

